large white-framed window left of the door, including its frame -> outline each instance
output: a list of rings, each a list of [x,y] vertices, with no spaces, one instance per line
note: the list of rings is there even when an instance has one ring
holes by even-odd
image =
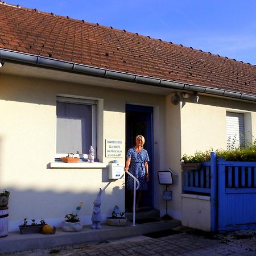
[[[97,101],[57,97],[56,157],[77,154],[88,158],[92,145],[97,157]]]

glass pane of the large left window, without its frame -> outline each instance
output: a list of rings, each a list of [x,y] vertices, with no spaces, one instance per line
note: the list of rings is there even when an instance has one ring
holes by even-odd
[[[57,154],[88,154],[90,145],[92,105],[57,102]]]

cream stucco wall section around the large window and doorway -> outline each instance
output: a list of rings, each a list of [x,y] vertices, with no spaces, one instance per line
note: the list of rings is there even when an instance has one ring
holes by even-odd
[[[99,80],[100,83],[100,80]],[[90,224],[93,201],[98,189],[102,193],[101,213],[106,218],[117,204],[125,208],[125,180],[109,180],[107,168],[49,168],[55,159],[56,96],[88,97],[100,100],[98,113],[98,158],[105,156],[105,140],[125,142],[125,105],[153,106],[154,138],[162,147],[164,138],[164,97],[123,90],[81,85],[70,82],[32,79],[18,76],[0,77],[0,188],[11,192],[9,230],[17,230],[23,218],[44,218],[60,226],[64,215],[84,204],[80,218]],[[156,148],[155,154],[159,155]],[[156,164],[162,162],[158,157]],[[120,163],[125,163],[125,152]],[[157,170],[159,166],[155,167]],[[157,201],[157,200],[156,200]],[[157,204],[157,203],[156,203]]]

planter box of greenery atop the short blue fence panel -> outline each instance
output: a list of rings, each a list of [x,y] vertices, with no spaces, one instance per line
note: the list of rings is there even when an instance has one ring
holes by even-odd
[[[198,170],[203,162],[210,160],[210,151],[196,151],[195,155],[184,154],[181,160],[181,170]]]

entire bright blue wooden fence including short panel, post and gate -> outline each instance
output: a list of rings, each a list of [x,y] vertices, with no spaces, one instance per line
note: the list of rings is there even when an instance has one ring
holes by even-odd
[[[256,163],[210,155],[200,170],[183,171],[183,192],[210,195],[210,229],[256,228]]]

